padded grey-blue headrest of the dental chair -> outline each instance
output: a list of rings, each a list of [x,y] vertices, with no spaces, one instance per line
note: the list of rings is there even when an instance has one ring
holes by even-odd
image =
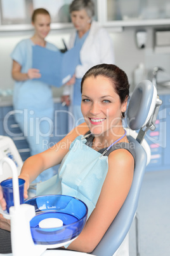
[[[127,122],[129,128],[138,130],[144,127],[155,109],[157,89],[149,80],[141,81],[130,98]]]

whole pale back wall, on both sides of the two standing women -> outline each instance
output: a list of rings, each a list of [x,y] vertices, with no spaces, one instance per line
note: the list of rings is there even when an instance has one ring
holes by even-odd
[[[148,78],[150,71],[154,66],[160,66],[166,70],[159,73],[159,78],[170,79],[170,52],[154,52],[154,30],[153,27],[144,27],[147,31],[147,44],[144,49],[138,49],[136,46],[136,27],[126,27],[122,32],[113,32],[108,29],[114,42],[115,64],[122,68],[129,77],[131,90],[133,90],[133,72],[136,66],[143,62],[148,69]],[[143,29],[143,27],[142,27]],[[13,80],[11,78],[11,59],[10,53],[16,43],[23,38],[32,36],[33,31],[15,31],[0,32],[0,89],[13,89]],[[62,38],[69,40],[68,30],[53,30],[48,36],[48,41],[54,43],[58,48],[63,48]],[[54,89],[54,94],[61,94],[62,89]]]

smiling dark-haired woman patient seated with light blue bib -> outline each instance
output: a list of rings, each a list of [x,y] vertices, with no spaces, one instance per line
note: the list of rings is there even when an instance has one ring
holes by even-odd
[[[52,148],[27,159],[20,178],[26,181],[27,198],[27,188],[37,175],[62,162],[58,176],[61,193],[88,206],[88,221],[67,248],[92,252],[128,196],[135,154],[122,127],[129,96],[126,73],[112,64],[94,66],[83,76],[81,92],[86,123]],[[0,203],[5,209],[2,193]],[[128,251],[123,255],[129,255]]]

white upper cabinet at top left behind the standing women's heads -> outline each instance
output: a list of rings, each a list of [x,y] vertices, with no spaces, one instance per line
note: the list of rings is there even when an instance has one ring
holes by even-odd
[[[72,0],[13,0],[12,2],[11,0],[0,0],[0,31],[33,30],[31,16],[37,8],[45,8],[49,11],[51,29],[72,28],[69,13],[70,3]],[[98,0],[94,0],[94,3],[94,18],[98,20]]]

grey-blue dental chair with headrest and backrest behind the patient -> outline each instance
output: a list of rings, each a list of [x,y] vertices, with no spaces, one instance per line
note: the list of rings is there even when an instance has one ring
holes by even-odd
[[[138,199],[145,174],[145,167],[150,161],[150,148],[143,138],[148,129],[154,131],[155,121],[161,104],[162,101],[157,96],[157,90],[149,80],[143,80],[135,87],[127,111],[127,123],[129,126],[127,129],[128,139],[134,143],[136,152],[133,183],[121,210],[117,213],[117,216],[98,246],[91,252],[92,255],[119,255],[119,253],[117,254],[119,246],[121,246],[128,235],[131,224],[135,219],[136,255],[140,256],[138,215],[136,210],[138,208]],[[140,131],[138,133],[135,132],[139,129]]]

